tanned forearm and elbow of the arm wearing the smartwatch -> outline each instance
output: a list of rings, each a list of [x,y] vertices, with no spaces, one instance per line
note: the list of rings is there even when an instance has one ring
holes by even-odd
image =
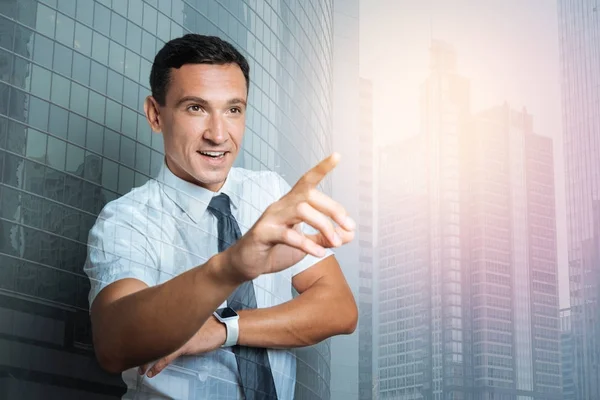
[[[352,333],[356,313],[351,293],[317,283],[289,302],[240,311],[238,343],[266,348],[311,346]]]

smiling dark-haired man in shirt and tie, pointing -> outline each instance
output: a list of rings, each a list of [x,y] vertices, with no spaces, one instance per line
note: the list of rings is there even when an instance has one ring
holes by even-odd
[[[287,349],[356,328],[331,250],[353,239],[355,223],[316,189],[339,156],[293,188],[274,172],[233,168],[249,67],[216,37],[167,43],[150,85],[144,110],[163,134],[164,165],[107,204],[89,235],[97,358],[123,374],[126,398],[291,399]]]

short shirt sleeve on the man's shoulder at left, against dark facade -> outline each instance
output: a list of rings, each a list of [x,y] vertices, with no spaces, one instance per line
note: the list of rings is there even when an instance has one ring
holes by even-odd
[[[157,284],[157,259],[141,216],[134,205],[117,200],[106,205],[90,230],[84,266],[91,285],[90,307],[102,289],[120,279]]]

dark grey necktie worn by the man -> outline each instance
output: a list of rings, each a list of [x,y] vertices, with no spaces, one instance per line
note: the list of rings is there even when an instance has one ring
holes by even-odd
[[[208,210],[217,218],[219,252],[221,252],[231,246],[242,234],[231,214],[229,197],[225,193],[213,197]],[[256,308],[256,295],[252,281],[241,284],[229,296],[227,304],[236,311]],[[233,346],[232,350],[237,360],[242,391],[246,400],[277,399],[267,349]]]

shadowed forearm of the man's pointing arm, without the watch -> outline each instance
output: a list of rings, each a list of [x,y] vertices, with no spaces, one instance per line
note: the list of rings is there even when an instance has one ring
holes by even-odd
[[[157,286],[124,296],[93,321],[101,326],[99,358],[113,372],[142,365],[187,342],[233,292],[216,255]]]

